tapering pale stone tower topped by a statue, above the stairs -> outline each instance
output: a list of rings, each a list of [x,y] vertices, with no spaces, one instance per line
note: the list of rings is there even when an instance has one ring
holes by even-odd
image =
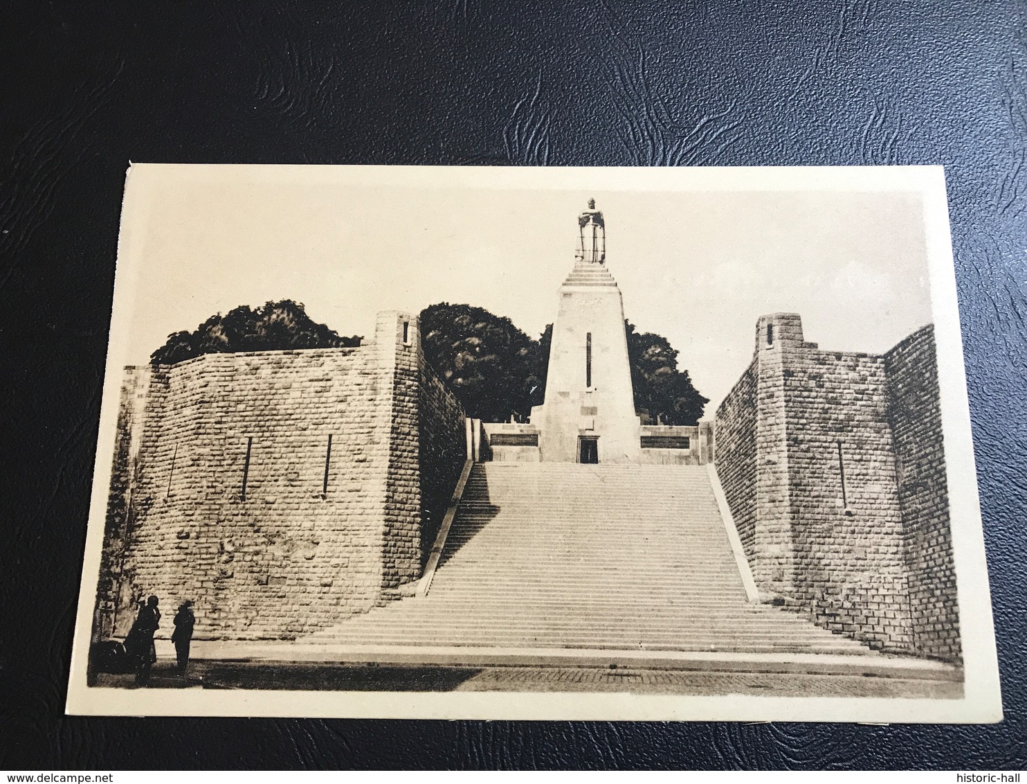
[[[606,226],[595,200],[578,216],[574,268],[560,287],[545,401],[531,412],[539,457],[633,462],[639,456],[624,306],[606,267]]]

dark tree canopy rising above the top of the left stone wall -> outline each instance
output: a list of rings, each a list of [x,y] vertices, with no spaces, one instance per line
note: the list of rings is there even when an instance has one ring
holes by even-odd
[[[307,315],[303,305],[291,299],[246,305],[222,315],[212,315],[194,332],[176,332],[150,354],[154,365],[174,365],[203,353],[276,351],[290,348],[340,348],[358,346],[362,337],[340,336]]]

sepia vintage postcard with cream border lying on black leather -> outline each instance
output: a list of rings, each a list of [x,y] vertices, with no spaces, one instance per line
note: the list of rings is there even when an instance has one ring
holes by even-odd
[[[132,164],[68,711],[999,720],[943,170]]]

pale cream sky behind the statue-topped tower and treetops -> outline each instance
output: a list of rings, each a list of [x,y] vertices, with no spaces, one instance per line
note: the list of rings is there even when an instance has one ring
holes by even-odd
[[[125,364],[214,313],[286,298],[345,335],[371,337],[379,310],[448,301],[537,337],[589,197],[624,315],[680,351],[711,399],[707,416],[748,366],[763,313],[798,312],[806,340],[870,352],[931,321],[915,189],[790,190],[772,170],[761,180],[772,188],[732,190],[687,187],[686,176],[667,188],[663,174],[620,188],[617,170],[554,170],[539,188],[506,169],[132,169],[115,294]],[[468,171],[479,176],[464,187]]]

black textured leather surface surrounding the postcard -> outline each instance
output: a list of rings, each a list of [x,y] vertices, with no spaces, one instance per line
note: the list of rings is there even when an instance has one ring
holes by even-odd
[[[3,3],[0,768],[1023,767],[1025,18],[1014,0]],[[944,163],[1005,721],[64,716],[129,159]]]

